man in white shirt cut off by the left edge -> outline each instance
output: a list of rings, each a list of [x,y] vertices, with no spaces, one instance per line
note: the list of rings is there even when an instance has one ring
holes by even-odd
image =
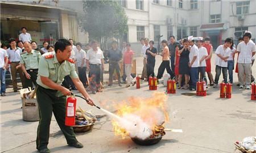
[[[2,43],[0,41],[0,46]],[[1,80],[1,96],[5,96],[5,73],[6,69],[8,69],[8,55],[5,49],[0,48],[0,80]]]

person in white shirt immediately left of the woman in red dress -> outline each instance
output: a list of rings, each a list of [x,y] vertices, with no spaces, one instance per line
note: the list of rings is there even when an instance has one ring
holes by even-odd
[[[200,38],[200,40],[197,40],[197,47],[199,48],[199,73],[200,73],[200,80],[203,80],[207,82],[206,76],[205,76],[205,69],[206,69],[206,62],[205,58],[208,56],[207,49],[203,46],[203,37]]]

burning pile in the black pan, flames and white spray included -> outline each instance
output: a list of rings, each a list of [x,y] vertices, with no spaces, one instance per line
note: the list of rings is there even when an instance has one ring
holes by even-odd
[[[155,92],[148,99],[131,98],[117,105],[117,116],[112,121],[115,135],[138,138],[141,140],[162,138],[165,135],[163,123],[169,120],[167,96]]]

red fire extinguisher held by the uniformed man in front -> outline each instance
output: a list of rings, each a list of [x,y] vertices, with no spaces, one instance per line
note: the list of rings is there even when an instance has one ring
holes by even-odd
[[[67,98],[65,125],[74,126],[75,120],[76,120],[76,98],[74,96],[70,96]]]

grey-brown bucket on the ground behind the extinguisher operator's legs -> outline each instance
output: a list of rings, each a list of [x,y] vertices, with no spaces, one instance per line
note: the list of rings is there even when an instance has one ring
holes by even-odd
[[[22,98],[23,121],[39,121],[38,101]]]

